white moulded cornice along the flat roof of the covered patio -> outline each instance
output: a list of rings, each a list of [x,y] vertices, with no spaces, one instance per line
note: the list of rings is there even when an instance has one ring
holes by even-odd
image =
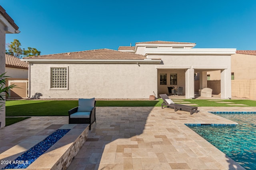
[[[146,55],[232,55],[236,49],[150,49],[145,48]]]

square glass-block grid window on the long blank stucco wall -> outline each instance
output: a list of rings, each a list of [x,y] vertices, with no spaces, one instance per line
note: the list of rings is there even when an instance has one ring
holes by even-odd
[[[51,68],[52,89],[68,89],[68,68]]]

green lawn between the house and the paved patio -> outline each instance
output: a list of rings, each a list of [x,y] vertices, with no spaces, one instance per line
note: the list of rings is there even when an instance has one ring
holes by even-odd
[[[184,99],[184,101],[201,107],[232,107],[208,100]],[[222,101],[256,107],[254,100]],[[97,101],[96,106],[161,106],[161,103],[162,99],[159,101]],[[64,116],[68,115],[69,109],[76,106],[78,106],[76,100],[12,100],[6,101],[6,116]]]

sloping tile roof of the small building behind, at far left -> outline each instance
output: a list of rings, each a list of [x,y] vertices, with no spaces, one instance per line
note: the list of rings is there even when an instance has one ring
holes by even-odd
[[[12,68],[28,69],[28,63],[20,61],[19,58],[7,54],[5,55],[5,66]]]

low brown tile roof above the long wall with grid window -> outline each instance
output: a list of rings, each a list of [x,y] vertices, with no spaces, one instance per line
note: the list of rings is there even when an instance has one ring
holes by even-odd
[[[52,55],[39,55],[24,57],[23,59],[122,59],[140,60],[146,59],[145,56],[128,52],[116,51],[112,49],[95,49],[70,53],[60,53]]]

